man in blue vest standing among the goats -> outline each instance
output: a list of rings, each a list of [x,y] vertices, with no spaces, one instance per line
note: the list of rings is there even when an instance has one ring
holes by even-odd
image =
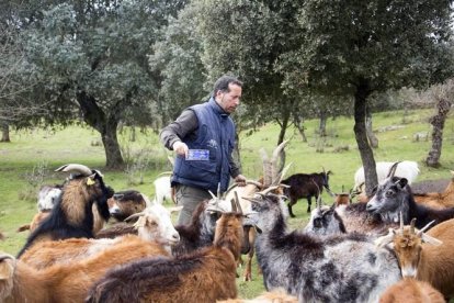
[[[195,207],[219,190],[225,192],[230,176],[238,186],[246,179],[235,164],[235,124],[229,116],[238,108],[242,82],[230,76],[220,77],[213,96],[203,104],[184,110],[160,133],[162,144],[177,153],[171,179],[175,199],[183,206],[178,224],[188,224]]]

